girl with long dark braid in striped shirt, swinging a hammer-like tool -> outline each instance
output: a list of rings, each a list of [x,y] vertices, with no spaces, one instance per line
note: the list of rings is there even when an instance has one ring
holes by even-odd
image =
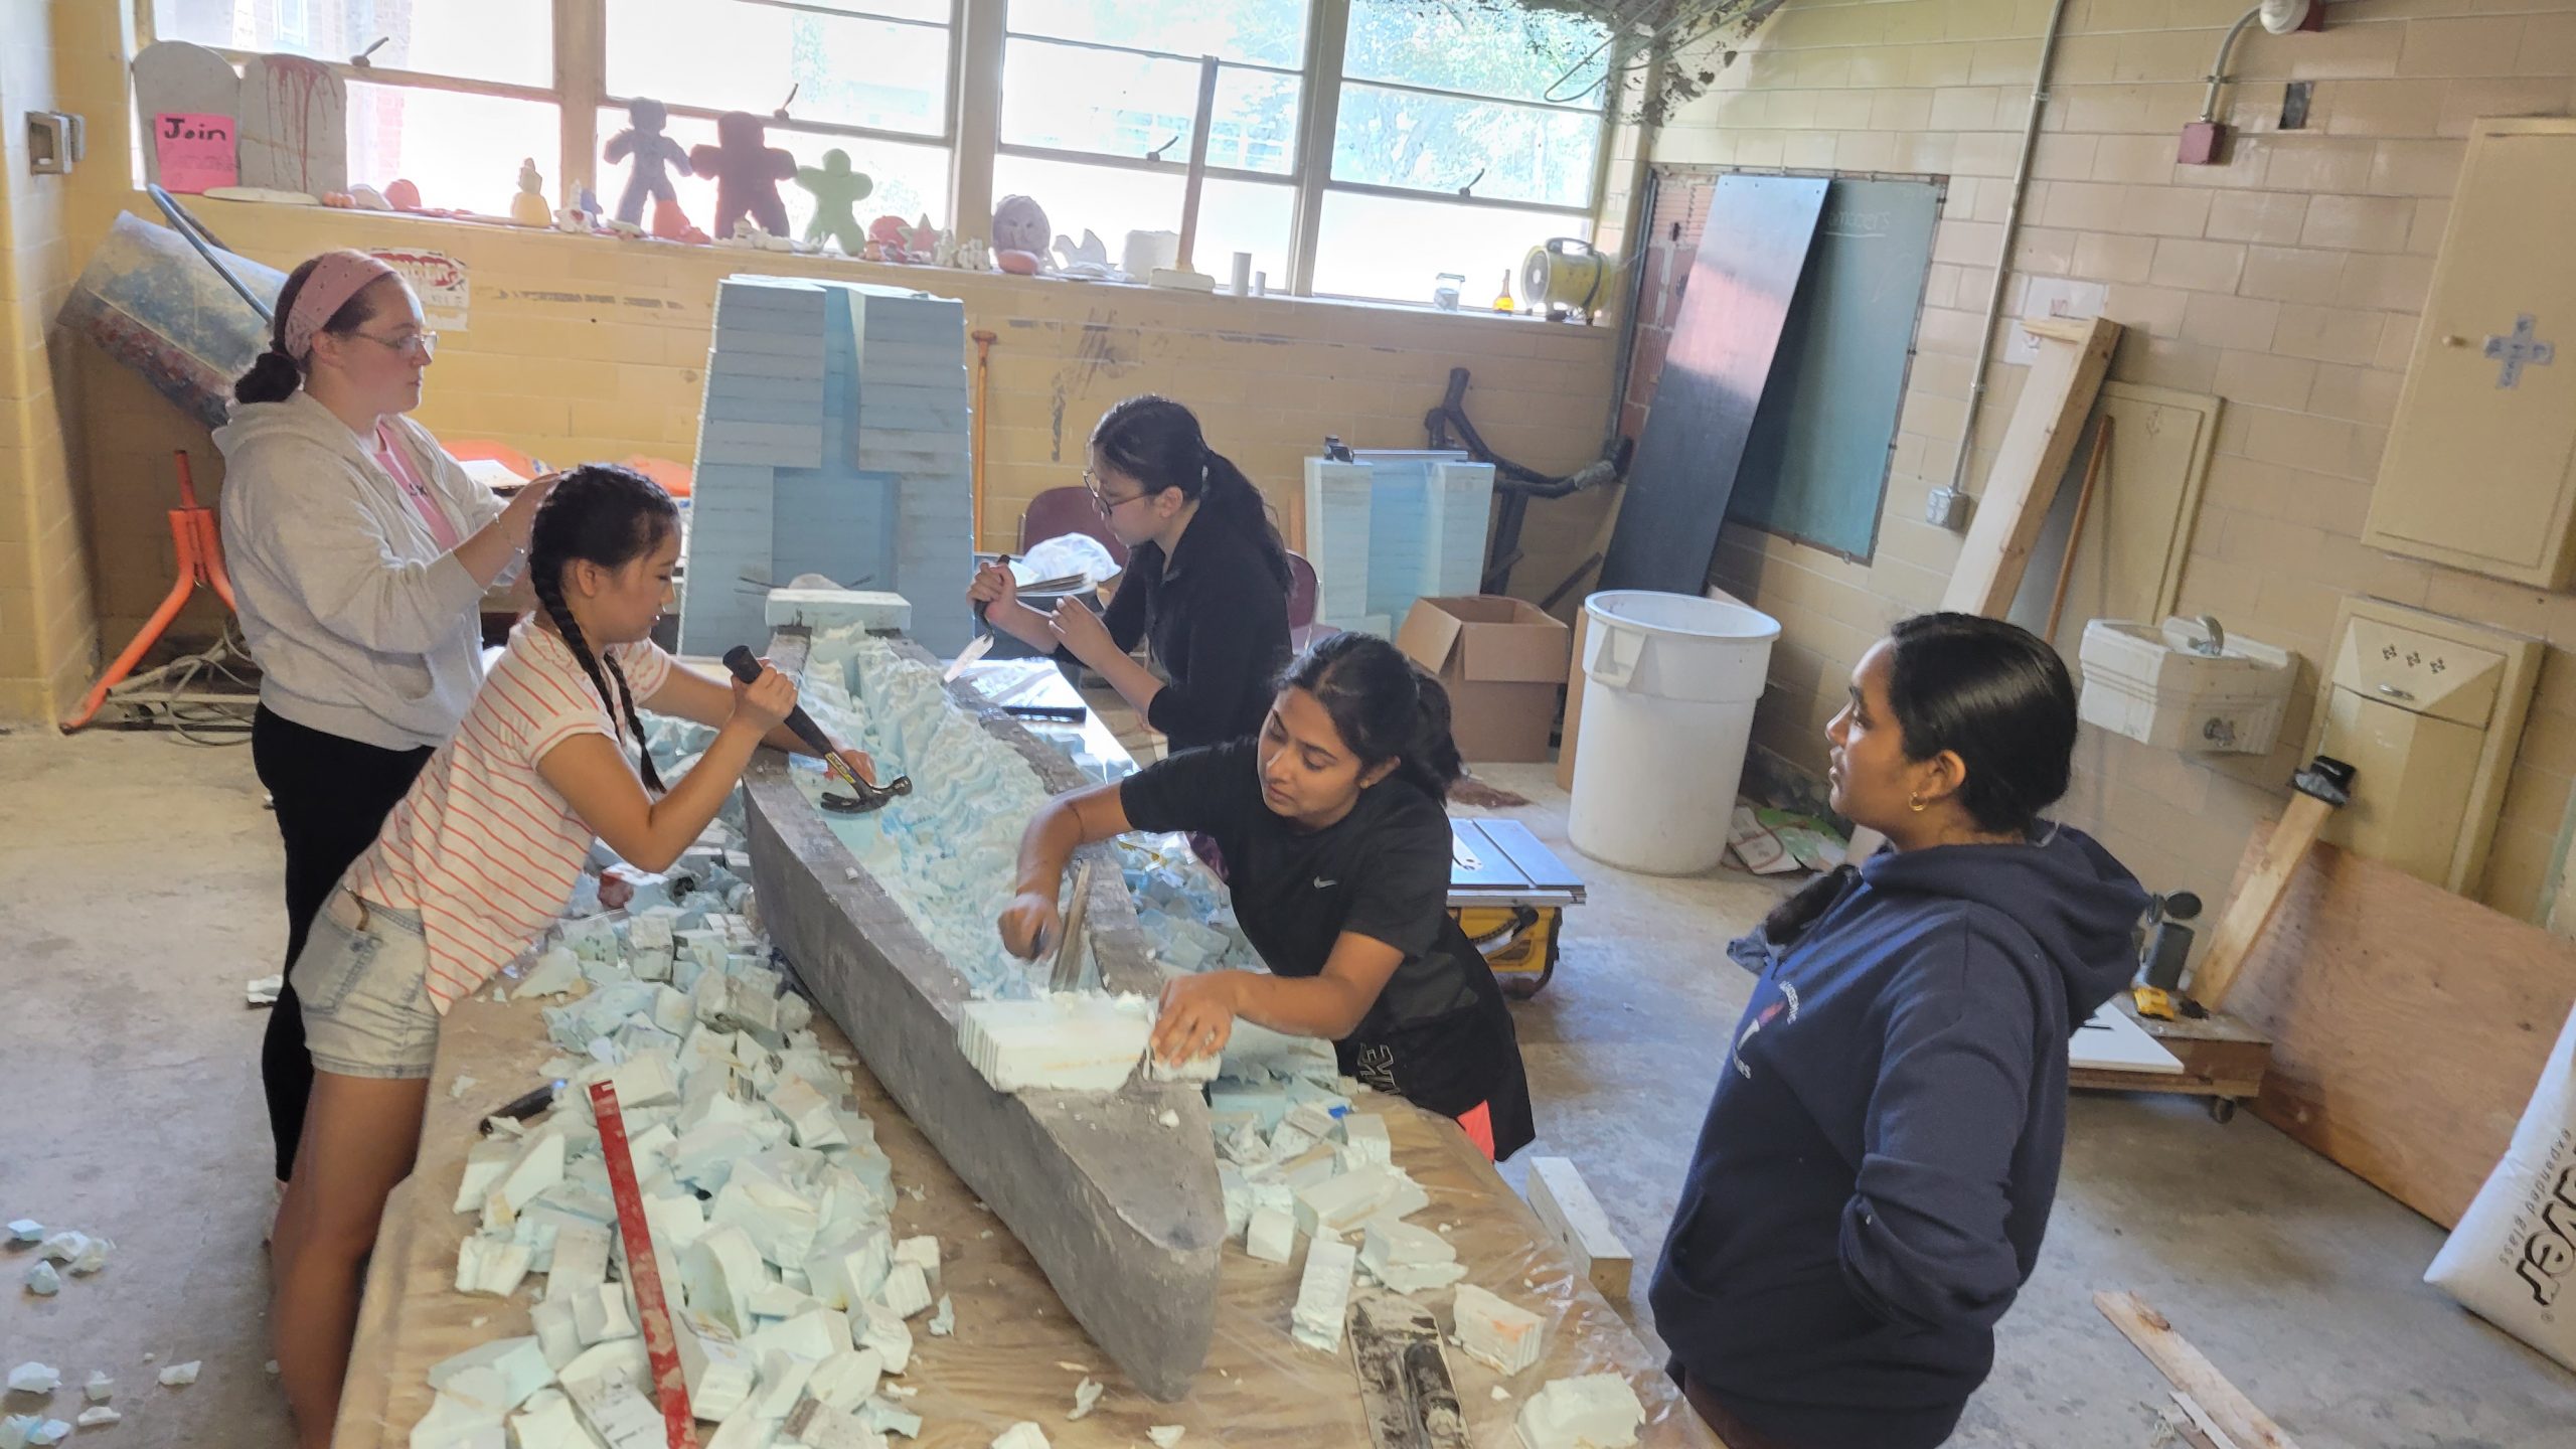
[[[304,1449],[327,1449],[384,1196],[412,1171],[438,1021],[572,905],[592,841],[662,871],[734,792],[796,686],[714,681],[652,642],[680,562],[680,513],[621,467],[564,474],[536,513],[538,608],[510,632],[456,737],[314,920],[304,995],[314,1088],[276,1230],[278,1377]],[[716,730],[665,789],[639,709]],[[863,779],[876,766],[842,758]]]

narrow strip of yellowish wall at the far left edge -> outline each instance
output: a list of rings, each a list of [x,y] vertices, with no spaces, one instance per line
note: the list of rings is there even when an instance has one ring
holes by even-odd
[[[67,106],[54,80],[54,10],[44,0],[0,8],[0,722],[70,712],[98,655],[75,490],[77,382],[64,351],[49,345],[80,271],[67,224],[72,180],[28,173],[21,119]],[[170,526],[160,511],[137,521],[139,534],[144,523],[139,567],[160,559],[160,593]]]

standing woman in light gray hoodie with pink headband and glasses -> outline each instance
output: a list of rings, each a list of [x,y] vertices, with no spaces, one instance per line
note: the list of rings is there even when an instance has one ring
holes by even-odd
[[[214,433],[224,554],[260,663],[250,753],[286,838],[289,964],[474,701],[482,596],[518,567],[551,487],[505,505],[407,418],[435,348],[394,268],[322,253],[289,273],[268,351]],[[260,1047],[281,1186],[312,1078],[286,987]]]

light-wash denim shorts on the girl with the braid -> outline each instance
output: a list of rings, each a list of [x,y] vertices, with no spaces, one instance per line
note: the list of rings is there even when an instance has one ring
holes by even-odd
[[[335,890],[289,972],[314,1067],[343,1078],[428,1078],[438,1057],[430,946],[420,915]]]

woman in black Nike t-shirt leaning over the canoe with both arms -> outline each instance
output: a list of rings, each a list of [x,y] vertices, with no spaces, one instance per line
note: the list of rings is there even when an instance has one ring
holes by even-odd
[[[1218,1052],[1236,1016],[1324,1036],[1342,1073],[1510,1158],[1535,1137],[1530,1083],[1494,972],[1448,913],[1440,802],[1458,773],[1448,691],[1386,639],[1334,634],[1288,668],[1257,737],[1048,802],[1020,838],[1002,944],[1036,957],[1064,928],[1056,890],[1074,846],[1126,830],[1213,835],[1234,918],[1270,975],[1172,980],[1154,1052]]]

